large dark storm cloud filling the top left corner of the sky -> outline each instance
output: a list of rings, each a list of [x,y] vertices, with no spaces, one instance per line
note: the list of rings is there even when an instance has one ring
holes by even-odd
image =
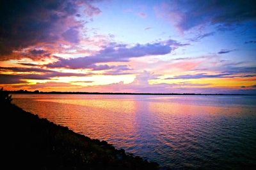
[[[10,55],[13,50],[37,43],[54,43],[61,34],[68,42],[78,42],[77,30],[70,29],[78,23],[68,20],[76,15],[80,4],[89,6],[86,11],[90,16],[99,13],[100,10],[90,3],[81,0],[0,1],[0,55]]]

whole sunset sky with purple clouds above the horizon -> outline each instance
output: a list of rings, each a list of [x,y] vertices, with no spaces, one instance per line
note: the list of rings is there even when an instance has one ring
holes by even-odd
[[[5,90],[256,94],[255,1],[0,1]]]

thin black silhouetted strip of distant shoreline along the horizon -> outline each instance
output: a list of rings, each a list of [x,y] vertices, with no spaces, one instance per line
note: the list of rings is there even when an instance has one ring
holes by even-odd
[[[6,90],[10,94],[100,94],[100,95],[161,95],[161,96],[256,96],[256,94],[193,94],[193,93],[120,93],[120,92],[39,92],[27,90]]]

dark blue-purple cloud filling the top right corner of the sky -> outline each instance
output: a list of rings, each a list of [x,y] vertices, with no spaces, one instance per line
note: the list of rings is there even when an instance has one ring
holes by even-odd
[[[156,8],[157,13],[171,20],[180,30],[202,24],[228,27],[255,20],[255,1],[170,1]]]

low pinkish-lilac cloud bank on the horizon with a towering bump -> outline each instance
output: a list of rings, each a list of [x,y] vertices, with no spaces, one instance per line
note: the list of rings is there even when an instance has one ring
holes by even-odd
[[[148,81],[157,79],[157,74],[143,71],[137,74],[136,78],[132,83],[124,84],[112,83],[109,85],[93,85],[83,87],[80,90],[88,92],[144,92],[144,93],[201,93],[201,94],[255,94],[255,90],[240,90],[240,89],[229,89],[229,88],[209,88],[205,87],[210,85],[209,83],[198,84],[198,83],[158,83],[150,84]]]

